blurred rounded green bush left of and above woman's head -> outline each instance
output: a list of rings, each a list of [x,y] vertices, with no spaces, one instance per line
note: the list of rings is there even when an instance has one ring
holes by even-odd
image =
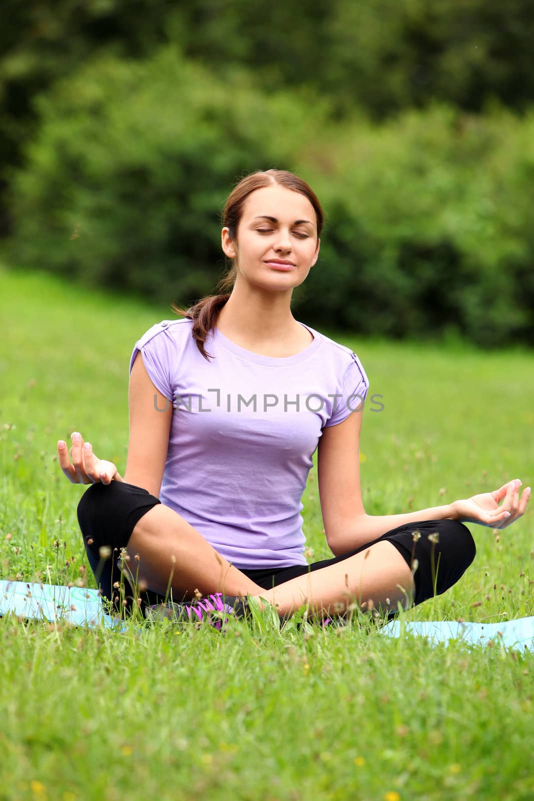
[[[101,58],[43,96],[14,175],[11,260],[158,299],[195,300],[222,268],[220,212],[258,168],[295,169],[325,103],[218,81],[175,49]]]

